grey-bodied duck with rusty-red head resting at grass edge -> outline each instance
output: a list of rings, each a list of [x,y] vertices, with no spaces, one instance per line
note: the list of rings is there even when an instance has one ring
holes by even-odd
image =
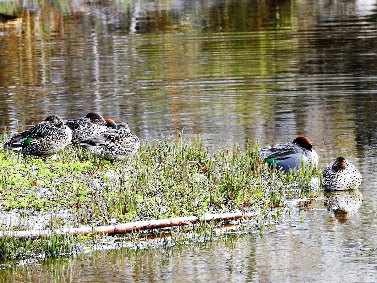
[[[296,137],[292,142],[284,145],[265,146],[259,149],[259,156],[266,160],[271,168],[277,171],[301,170],[301,161],[305,166],[318,166],[318,154],[314,151],[307,137]]]

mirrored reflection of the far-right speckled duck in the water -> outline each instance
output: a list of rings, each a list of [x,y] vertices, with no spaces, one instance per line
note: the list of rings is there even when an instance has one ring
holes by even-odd
[[[345,222],[349,215],[356,213],[363,202],[359,190],[323,192],[327,211],[334,213],[339,222]]]

